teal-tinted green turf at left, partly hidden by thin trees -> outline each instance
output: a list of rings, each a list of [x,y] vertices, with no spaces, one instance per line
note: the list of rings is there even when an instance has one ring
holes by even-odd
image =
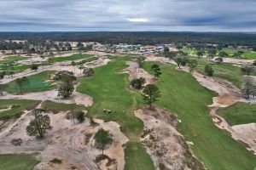
[[[44,82],[48,80],[54,73],[55,71],[43,71],[36,75],[27,77],[29,80],[29,86],[27,87],[26,92],[42,92],[55,88],[55,86],[51,85],[50,82]],[[5,91],[15,93],[17,91],[15,88],[15,81],[9,82]]]

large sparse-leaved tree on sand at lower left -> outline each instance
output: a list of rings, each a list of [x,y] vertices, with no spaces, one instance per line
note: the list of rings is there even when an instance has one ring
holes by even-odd
[[[43,138],[47,130],[51,129],[50,120],[48,115],[41,114],[41,110],[33,111],[35,119],[32,120],[26,127],[26,133],[29,136],[36,136]]]

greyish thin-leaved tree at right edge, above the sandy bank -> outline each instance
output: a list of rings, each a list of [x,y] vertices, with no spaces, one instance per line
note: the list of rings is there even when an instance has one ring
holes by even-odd
[[[241,93],[246,99],[256,95],[256,85],[251,77],[244,77],[241,84]]]

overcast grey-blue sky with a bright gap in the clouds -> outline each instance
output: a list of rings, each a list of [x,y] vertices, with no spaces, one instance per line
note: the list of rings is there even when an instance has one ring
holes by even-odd
[[[0,0],[0,31],[256,31],[256,0]]]

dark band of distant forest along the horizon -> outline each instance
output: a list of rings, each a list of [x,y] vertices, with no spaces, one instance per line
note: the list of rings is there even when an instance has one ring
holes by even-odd
[[[256,46],[256,33],[217,32],[0,32],[1,40],[51,40],[108,44],[218,43]]]

